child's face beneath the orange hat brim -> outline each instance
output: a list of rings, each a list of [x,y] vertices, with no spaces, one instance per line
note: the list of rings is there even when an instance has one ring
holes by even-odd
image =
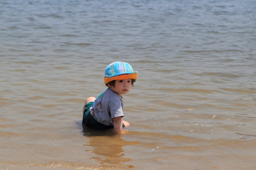
[[[115,86],[116,87],[111,87],[111,88],[119,96],[121,96],[122,94],[126,94],[131,89],[132,79],[116,80]]]

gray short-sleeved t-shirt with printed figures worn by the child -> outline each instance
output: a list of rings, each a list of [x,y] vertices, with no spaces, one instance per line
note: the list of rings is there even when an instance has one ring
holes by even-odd
[[[94,101],[90,113],[102,124],[113,126],[113,118],[124,117],[123,97],[120,97],[112,88],[107,88]]]

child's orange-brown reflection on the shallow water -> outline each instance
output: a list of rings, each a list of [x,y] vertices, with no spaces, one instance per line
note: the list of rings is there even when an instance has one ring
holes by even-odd
[[[112,167],[129,167],[131,165],[123,165],[122,163],[131,161],[131,158],[123,158],[125,145],[136,145],[139,142],[124,141],[122,136],[114,133],[113,129],[108,130],[94,130],[83,127],[85,137],[89,137],[89,145],[93,150],[86,150],[90,153],[99,155],[100,157],[91,157],[100,162],[102,166]]]

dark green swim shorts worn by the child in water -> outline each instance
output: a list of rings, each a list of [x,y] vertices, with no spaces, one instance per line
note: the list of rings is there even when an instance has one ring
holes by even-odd
[[[90,113],[90,107],[93,106],[93,102],[89,102],[84,106],[84,112],[83,112],[83,126],[90,127],[93,129],[110,129],[114,128],[114,126],[108,126],[102,123],[99,123]],[[123,128],[124,128],[123,123]]]

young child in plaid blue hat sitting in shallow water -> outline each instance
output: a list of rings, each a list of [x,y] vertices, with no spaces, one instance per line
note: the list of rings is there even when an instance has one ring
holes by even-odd
[[[138,72],[124,62],[114,62],[106,68],[104,82],[108,88],[97,99],[89,97],[83,107],[83,126],[94,129],[114,128],[122,134],[130,124],[123,121],[123,97],[136,82]]]

